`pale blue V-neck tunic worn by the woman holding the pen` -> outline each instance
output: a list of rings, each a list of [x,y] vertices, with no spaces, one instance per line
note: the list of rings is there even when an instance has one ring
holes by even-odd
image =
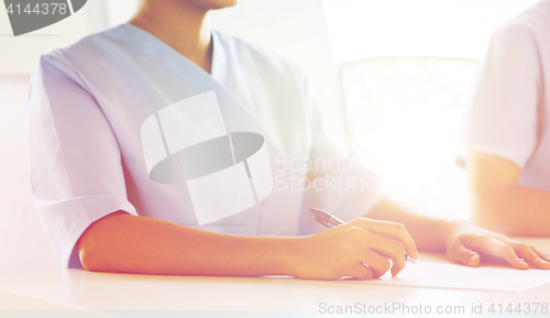
[[[28,147],[35,207],[63,266],[118,210],[209,231],[301,235],[310,205],[349,221],[385,193],[324,136],[302,73],[212,32],[206,73],[122,24],[41,56]]]

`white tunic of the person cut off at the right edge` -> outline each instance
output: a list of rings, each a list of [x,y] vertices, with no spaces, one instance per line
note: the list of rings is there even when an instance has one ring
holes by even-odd
[[[465,145],[512,161],[519,184],[550,190],[550,0],[492,36],[466,117]]]

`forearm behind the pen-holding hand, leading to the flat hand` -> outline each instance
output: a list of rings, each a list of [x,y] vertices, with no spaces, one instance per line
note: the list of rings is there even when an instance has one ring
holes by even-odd
[[[418,250],[444,253],[453,221],[433,219],[414,213],[410,207],[385,199],[372,207],[365,218],[399,222],[405,226]]]

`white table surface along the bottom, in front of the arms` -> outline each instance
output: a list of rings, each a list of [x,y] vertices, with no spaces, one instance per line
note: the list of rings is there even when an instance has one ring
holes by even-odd
[[[550,239],[518,240],[550,252]],[[420,263],[449,262],[444,255],[429,253],[421,253],[419,261]],[[548,274],[550,275],[550,271]],[[75,312],[79,312],[77,316],[87,315],[82,317],[160,317],[161,314],[166,317],[338,316],[322,315],[320,312],[321,303],[328,306],[354,306],[355,303],[367,306],[393,303],[403,303],[407,306],[421,304],[432,307],[432,310],[439,305],[465,306],[466,314],[455,317],[470,317],[471,315],[468,314],[471,311],[472,304],[483,304],[485,312],[475,315],[475,317],[501,317],[501,315],[486,310],[492,303],[516,306],[518,303],[526,301],[550,303],[550,284],[514,293],[376,286],[358,284],[356,281],[324,282],[277,277],[132,275],[61,268],[57,271],[0,274],[0,317],[2,317],[2,312],[8,312],[8,317],[15,317],[21,311],[4,310],[20,309],[48,310],[38,311],[41,312],[40,317],[44,317],[44,312],[55,314],[53,317],[61,317],[63,315],[59,312],[64,312],[64,310],[72,312],[67,317],[74,317]],[[206,315],[202,311],[189,310],[213,311],[208,311]],[[550,312],[546,315],[510,315],[505,312],[502,316],[550,317]]]

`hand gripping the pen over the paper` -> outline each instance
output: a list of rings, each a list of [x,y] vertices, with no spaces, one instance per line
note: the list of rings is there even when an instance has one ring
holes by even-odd
[[[342,276],[371,279],[392,267],[395,276],[405,267],[405,252],[413,259],[418,257],[415,241],[402,223],[358,218],[299,238],[293,272],[295,277],[307,279],[338,279]]]

